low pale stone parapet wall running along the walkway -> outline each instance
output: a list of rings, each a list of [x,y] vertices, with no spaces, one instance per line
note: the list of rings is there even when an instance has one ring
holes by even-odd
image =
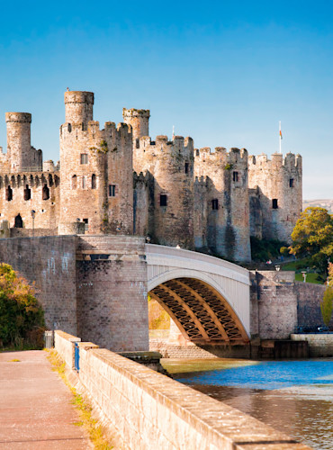
[[[56,332],[56,350],[69,337]],[[66,342],[63,339],[67,340]],[[67,347],[67,348],[65,348]],[[283,433],[192,388],[91,343],[80,343],[80,387],[118,431],[122,447],[136,450],[306,450]],[[69,358],[70,360],[70,358]],[[67,367],[71,369],[72,367]]]

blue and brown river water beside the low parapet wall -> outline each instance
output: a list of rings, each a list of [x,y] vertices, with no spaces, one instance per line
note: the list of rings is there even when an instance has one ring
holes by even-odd
[[[175,380],[316,449],[333,449],[333,358],[171,360]]]

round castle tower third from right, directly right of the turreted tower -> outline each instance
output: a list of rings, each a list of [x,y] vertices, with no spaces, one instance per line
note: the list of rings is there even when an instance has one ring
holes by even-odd
[[[135,170],[148,177],[152,243],[193,249],[193,139],[139,139]]]

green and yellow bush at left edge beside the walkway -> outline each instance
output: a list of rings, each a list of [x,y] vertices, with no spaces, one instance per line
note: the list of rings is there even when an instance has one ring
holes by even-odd
[[[24,341],[37,344],[43,326],[44,314],[34,288],[12,266],[0,264],[0,342],[4,346]]]

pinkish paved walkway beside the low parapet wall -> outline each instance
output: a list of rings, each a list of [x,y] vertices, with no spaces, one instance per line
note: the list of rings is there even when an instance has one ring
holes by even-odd
[[[44,351],[0,353],[0,450],[94,448]],[[19,359],[20,362],[11,362]]]

